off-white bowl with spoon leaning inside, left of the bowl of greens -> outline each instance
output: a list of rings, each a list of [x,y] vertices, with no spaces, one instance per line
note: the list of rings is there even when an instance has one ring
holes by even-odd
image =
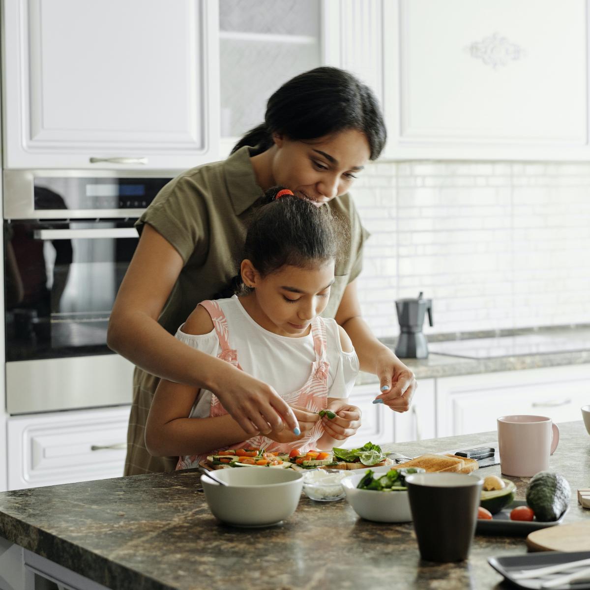
[[[235,526],[269,526],[297,509],[303,474],[290,469],[218,469],[228,486],[201,477],[207,504],[215,517]]]

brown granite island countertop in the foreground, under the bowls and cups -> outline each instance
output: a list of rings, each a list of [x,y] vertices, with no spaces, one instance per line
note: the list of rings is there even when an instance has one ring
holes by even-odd
[[[590,487],[590,437],[584,424],[560,425],[550,461],[568,478],[565,522],[588,518],[576,490]],[[386,450],[417,455],[474,447],[495,432],[404,444]],[[482,474],[500,474],[487,467]],[[510,478],[523,498],[527,478]],[[195,471],[114,478],[0,493],[0,536],[109,588],[505,588],[487,563],[526,553],[522,537],[477,535],[466,562],[422,562],[411,523],[360,519],[345,500],[303,496],[282,525],[221,525],[197,491]]]

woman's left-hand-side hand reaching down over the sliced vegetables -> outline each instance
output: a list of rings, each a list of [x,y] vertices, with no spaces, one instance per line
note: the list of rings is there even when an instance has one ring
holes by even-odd
[[[298,436],[300,426],[289,404],[270,385],[221,361],[216,383],[208,385],[249,437],[286,430]]]

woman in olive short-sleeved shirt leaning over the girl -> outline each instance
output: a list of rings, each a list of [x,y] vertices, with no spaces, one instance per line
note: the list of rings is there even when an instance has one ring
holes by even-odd
[[[176,458],[152,457],[145,448],[159,378],[213,392],[252,436],[282,428],[297,432],[297,420],[308,421],[266,383],[173,336],[199,301],[211,299],[235,275],[248,219],[271,186],[287,186],[347,220],[349,248],[339,253],[323,315],[348,333],[360,369],[379,376],[383,393],[373,403],[407,411],[414,375],[360,317],[355,280],[368,234],[347,194],[366,162],[378,158],[385,136],[367,86],[337,68],[316,68],[270,97],[264,124],[242,137],[227,160],[182,173],[146,209],[107,336],[110,348],[137,365],[125,474],[175,468]]]

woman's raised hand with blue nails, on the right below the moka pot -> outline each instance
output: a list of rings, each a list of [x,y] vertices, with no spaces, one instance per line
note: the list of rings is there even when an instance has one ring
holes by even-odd
[[[394,412],[407,412],[418,387],[414,373],[391,350],[384,350],[375,360],[375,375],[381,382],[382,394],[373,404],[385,404]]]

